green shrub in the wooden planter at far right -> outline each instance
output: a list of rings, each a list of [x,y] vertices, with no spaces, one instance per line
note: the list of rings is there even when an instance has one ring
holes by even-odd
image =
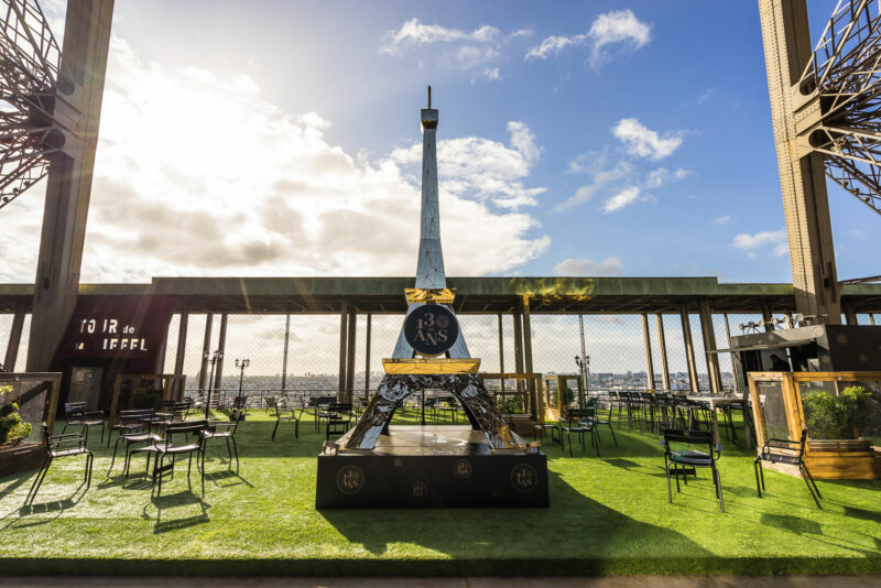
[[[846,388],[836,396],[814,392],[802,400],[811,436],[815,439],[855,439],[872,422],[872,394],[861,385]]]

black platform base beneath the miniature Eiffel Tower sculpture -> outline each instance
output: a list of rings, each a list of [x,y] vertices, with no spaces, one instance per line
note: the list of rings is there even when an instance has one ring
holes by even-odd
[[[372,454],[318,456],[317,509],[548,505],[547,456],[492,455],[469,426],[396,426]]]

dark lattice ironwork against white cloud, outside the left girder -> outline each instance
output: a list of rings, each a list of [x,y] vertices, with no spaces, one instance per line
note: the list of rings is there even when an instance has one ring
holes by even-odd
[[[0,208],[48,171],[47,155],[64,144],[53,122],[55,89],[73,88],[61,74],[61,50],[35,0],[0,0]]]

